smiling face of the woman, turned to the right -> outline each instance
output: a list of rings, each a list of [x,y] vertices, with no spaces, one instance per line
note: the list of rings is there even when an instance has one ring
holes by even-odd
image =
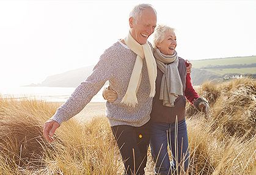
[[[176,46],[176,35],[174,32],[170,31],[166,31],[164,33],[164,40],[156,45],[159,51],[164,55],[173,55]]]

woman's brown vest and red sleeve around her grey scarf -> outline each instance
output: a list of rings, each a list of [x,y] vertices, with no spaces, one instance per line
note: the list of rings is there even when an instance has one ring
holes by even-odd
[[[181,82],[183,84],[184,95],[178,96],[174,102],[174,107],[164,106],[163,101],[159,100],[159,91],[163,73],[158,69],[156,77],[156,94],[153,98],[152,112],[150,114],[151,121],[153,122],[175,123],[176,116],[178,121],[183,120],[186,115],[186,99],[192,103],[194,99],[199,98],[199,95],[192,87],[190,74],[186,73],[186,66],[188,66],[188,63],[186,63],[185,60],[181,59],[180,57],[178,59],[178,71],[180,73]]]

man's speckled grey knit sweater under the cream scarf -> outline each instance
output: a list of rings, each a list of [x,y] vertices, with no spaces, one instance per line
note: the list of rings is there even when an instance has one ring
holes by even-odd
[[[138,127],[147,123],[150,120],[153,98],[149,98],[150,83],[145,59],[142,66],[141,85],[137,91],[138,104],[134,108],[120,104],[126,93],[136,56],[133,51],[125,48],[119,42],[114,43],[101,55],[90,76],[76,87],[70,98],[57,109],[50,120],[61,124],[75,116],[109,80],[109,85],[118,95],[114,103],[106,102],[106,116],[110,125],[125,124]]]

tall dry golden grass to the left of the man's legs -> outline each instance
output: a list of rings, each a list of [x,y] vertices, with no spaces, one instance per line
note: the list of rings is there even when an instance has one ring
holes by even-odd
[[[122,171],[106,118],[70,120],[49,144],[43,123],[57,105],[0,99],[0,174],[118,174]]]

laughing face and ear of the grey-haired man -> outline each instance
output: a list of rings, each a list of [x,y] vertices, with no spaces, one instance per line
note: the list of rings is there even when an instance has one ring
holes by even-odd
[[[148,37],[153,34],[156,27],[156,13],[153,9],[145,9],[138,16],[137,21],[133,18],[129,19],[131,27],[131,35],[141,45],[147,43]]]

